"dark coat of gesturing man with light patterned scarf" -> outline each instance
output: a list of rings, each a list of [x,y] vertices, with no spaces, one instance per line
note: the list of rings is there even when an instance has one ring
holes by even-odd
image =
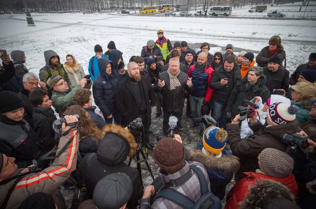
[[[163,72],[159,74],[158,79],[160,79],[161,81],[165,81],[165,85],[164,87],[160,88],[158,86],[158,82],[156,82],[154,89],[156,93],[161,92],[163,99],[163,108],[165,108],[167,112],[182,112],[184,107],[185,90],[190,93],[194,89],[193,84],[191,87],[188,87],[186,85],[188,77],[188,74],[180,71],[177,78],[181,83],[181,86],[178,86],[174,90],[170,90],[170,78],[168,72]]]

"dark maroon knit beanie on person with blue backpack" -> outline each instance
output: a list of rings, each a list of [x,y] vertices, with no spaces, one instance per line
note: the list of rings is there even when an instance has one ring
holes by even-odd
[[[159,167],[172,174],[185,166],[185,148],[173,138],[163,138],[156,144],[153,158]]]

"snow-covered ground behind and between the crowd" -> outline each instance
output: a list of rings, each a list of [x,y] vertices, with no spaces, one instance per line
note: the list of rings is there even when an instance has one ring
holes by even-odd
[[[255,56],[268,45],[273,35],[279,35],[286,51],[286,65],[290,72],[307,62],[308,55],[316,52],[316,21],[310,20],[249,20],[249,19],[207,19],[207,18],[165,18],[131,15],[93,14],[32,14],[35,27],[27,26],[25,15],[0,15],[0,46],[8,53],[20,49],[25,51],[26,64],[30,72],[39,73],[45,65],[44,51],[52,49],[65,62],[66,54],[73,54],[88,74],[88,61],[94,55],[94,45],[100,44],[103,51],[109,41],[114,41],[123,52],[125,66],[132,55],[140,55],[149,39],[157,39],[157,30],[174,41],[187,41],[196,51],[202,42],[211,44],[210,53],[225,51],[228,43],[233,44],[234,54],[240,51],[252,52]],[[97,109],[96,112],[99,112]],[[184,110],[185,113],[185,110]],[[152,113],[151,130],[162,134],[162,116]],[[191,119],[183,114],[182,125],[186,127]],[[193,148],[198,141],[198,128],[185,128],[179,133],[184,146]],[[155,144],[155,137],[151,136]],[[151,153],[150,153],[151,154]],[[158,171],[151,156],[149,164],[154,175]],[[133,165],[136,167],[135,165]],[[145,165],[142,165],[144,167]],[[147,171],[143,171],[144,184],[152,182]],[[228,185],[228,190],[233,184]],[[66,195],[68,194],[68,195]],[[71,191],[64,191],[69,201]]]

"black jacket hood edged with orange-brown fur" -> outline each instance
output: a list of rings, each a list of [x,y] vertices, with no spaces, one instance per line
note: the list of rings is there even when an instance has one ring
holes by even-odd
[[[107,166],[116,166],[133,156],[137,144],[133,135],[119,125],[106,125],[102,130],[104,135],[97,150],[97,160]]]

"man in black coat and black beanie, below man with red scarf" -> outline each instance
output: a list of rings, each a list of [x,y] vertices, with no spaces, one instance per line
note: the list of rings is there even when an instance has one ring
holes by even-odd
[[[289,89],[290,72],[283,68],[282,54],[275,54],[268,59],[268,66],[263,68],[263,74],[267,78],[265,86],[269,89],[270,94],[273,94],[273,89]]]

